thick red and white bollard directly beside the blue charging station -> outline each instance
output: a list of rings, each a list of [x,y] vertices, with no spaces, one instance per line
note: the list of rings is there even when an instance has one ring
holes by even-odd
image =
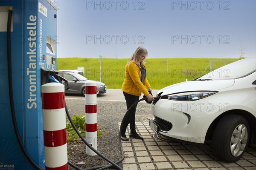
[[[68,170],[64,85],[41,86],[46,170]]]

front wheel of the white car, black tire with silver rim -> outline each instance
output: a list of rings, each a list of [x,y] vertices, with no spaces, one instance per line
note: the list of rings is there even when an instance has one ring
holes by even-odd
[[[215,155],[227,162],[238,161],[249,142],[250,127],[241,115],[224,115],[213,133]]]

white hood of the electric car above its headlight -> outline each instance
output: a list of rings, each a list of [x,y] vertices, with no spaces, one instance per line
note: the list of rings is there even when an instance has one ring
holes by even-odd
[[[235,80],[208,80],[208,81],[185,81],[178,84],[173,84],[160,89],[157,94],[163,92],[161,95],[169,95],[178,92],[191,91],[218,91],[227,87],[233,86]]]

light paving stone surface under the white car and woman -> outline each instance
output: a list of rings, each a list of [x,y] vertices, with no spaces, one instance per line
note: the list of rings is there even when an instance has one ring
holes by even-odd
[[[227,163],[214,155],[212,144],[163,141],[154,135],[148,122],[136,122],[136,126],[144,140],[122,141],[124,170],[256,170],[255,148],[248,147],[239,161]]]

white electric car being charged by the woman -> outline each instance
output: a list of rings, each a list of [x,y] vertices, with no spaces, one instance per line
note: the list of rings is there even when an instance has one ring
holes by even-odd
[[[256,58],[161,89],[152,112],[155,133],[183,142],[212,140],[216,156],[239,160],[248,143],[256,144]]]

